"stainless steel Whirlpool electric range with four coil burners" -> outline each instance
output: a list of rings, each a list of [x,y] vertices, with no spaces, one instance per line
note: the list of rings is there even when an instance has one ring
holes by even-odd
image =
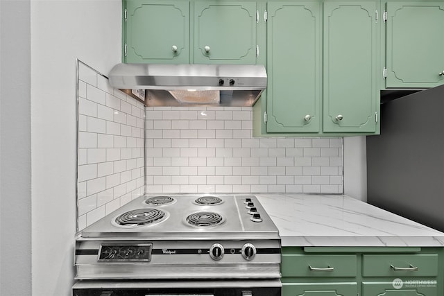
[[[280,296],[280,236],[255,195],[143,195],[76,238],[74,296]]]

